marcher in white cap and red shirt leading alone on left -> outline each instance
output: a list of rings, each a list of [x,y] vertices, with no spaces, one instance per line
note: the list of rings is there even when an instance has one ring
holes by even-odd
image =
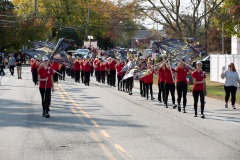
[[[47,57],[42,58],[43,64],[38,68],[38,81],[39,81],[39,91],[42,98],[42,116],[49,118],[48,113],[49,106],[51,103],[51,90],[54,92],[53,85],[53,69],[49,66],[49,60]]]

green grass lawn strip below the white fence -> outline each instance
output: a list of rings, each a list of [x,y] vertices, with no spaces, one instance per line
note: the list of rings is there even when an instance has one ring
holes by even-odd
[[[223,88],[223,83],[211,82],[210,75],[207,75],[207,97],[217,98],[224,101],[225,92]],[[157,75],[154,75],[154,84],[157,84]],[[192,85],[188,86],[188,92],[192,91]],[[231,100],[231,98],[229,99]],[[229,101],[230,102],[230,101]],[[237,92],[236,103],[240,104],[240,93]]]

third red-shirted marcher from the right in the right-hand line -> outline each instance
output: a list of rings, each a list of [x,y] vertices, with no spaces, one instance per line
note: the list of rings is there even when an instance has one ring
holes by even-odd
[[[165,63],[165,107],[168,108],[168,95],[169,91],[172,96],[173,109],[177,106],[175,105],[175,84],[174,84],[174,72],[175,70],[171,67],[170,62]]]

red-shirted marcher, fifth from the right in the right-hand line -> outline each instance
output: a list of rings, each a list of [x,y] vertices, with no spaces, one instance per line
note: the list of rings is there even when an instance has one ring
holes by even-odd
[[[151,94],[151,100],[154,100],[153,97],[153,90],[152,90],[152,85],[153,85],[153,74],[155,73],[151,62],[148,62],[147,65],[147,75],[144,77],[144,83],[145,83],[145,87],[146,87],[146,96],[147,96],[147,100],[148,100],[148,93],[150,90],[150,94]]]

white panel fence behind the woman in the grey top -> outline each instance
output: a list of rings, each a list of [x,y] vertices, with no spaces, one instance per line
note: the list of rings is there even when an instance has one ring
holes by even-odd
[[[240,75],[240,55],[210,55],[210,81],[224,83],[221,78],[222,68],[228,68],[229,63],[234,63]]]

